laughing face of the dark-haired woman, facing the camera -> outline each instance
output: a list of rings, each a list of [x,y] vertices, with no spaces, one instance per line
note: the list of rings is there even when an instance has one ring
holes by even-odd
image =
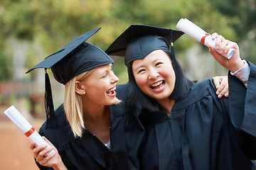
[[[134,60],[132,72],[139,89],[156,101],[168,99],[174,91],[174,69],[163,50],[155,50],[144,59]]]

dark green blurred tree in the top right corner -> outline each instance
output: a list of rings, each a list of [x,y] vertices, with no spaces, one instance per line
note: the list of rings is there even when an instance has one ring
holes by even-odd
[[[238,36],[242,57],[256,63],[256,1],[255,0],[214,0],[211,4],[227,17],[238,17],[240,22],[233,28]]]

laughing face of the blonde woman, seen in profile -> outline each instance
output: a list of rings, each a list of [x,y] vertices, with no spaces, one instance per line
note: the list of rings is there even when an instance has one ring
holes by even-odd
[[[97,67],[88,77],[80,81],[85,94],[82,100],[89,106],[93,104],[110,106],[117,101],[116,83],[118,77],[112,71],[112,64]]]

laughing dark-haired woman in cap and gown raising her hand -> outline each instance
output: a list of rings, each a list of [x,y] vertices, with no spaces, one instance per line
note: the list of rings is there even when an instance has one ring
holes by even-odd
[[[212,79],[190,81],[174,55],[178,30],[132,25],[106,50],[124,56],[129,105],[146,130],[141,169],[256,169],[256,67],[241,60],[235,42],[214,33],[209,47],[230,70],[229,98]],[[171,53],[170,50],[171,43]],[[234,48],[233,57],[222,56]]]

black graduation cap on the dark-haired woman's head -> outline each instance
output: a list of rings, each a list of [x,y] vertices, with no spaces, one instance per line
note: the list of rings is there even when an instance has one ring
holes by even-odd
[[[180,30],[133,24],[105,51],[108,55],[125,56],[125,64],[142,59],[154,50],[170,50],[169,44],[183,35]],[[171,50],[174,55],[174,49]]]

